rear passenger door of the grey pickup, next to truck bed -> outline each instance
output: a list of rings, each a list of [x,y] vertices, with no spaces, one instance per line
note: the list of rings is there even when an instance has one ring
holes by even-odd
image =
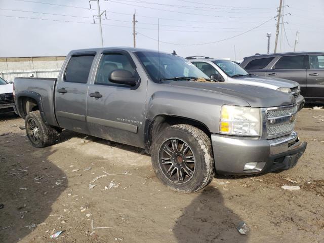
[[[55,109],[60,127],[89,134],[86,123],[89,74],[95,53],[73,55],[58,78]]]

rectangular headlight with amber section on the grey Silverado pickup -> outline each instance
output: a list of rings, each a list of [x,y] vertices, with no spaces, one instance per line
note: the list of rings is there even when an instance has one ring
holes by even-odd
[[[223,105],[221,109],[219,132],[228,135],[260,136],[260,109]]]

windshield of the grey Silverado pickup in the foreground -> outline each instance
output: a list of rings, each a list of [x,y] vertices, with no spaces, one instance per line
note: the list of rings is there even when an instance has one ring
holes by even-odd
[[[175,80],[185,80],[185,77],[209,78],[191,62],[179,56],[165,53],[158,54],[157,52],[136,52],[136,55],[156,83],[159,83],[161,79],[175,77],[182,77]]]

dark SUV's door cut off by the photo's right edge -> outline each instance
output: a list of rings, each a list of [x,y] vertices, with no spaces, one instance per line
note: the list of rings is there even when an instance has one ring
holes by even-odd
[[[324,55],[310,55],[307,69],[307,97],[324,99]]]

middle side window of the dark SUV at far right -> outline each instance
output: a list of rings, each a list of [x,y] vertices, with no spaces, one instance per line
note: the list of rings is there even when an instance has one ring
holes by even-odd
[[[276,62],[274,69],[306,69],[307,56],[283,56]]]

